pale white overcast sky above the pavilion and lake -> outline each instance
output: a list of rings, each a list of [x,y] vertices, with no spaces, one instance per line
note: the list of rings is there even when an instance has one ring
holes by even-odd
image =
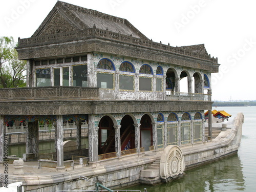
[[[148,38],[171,46],[205,44],[221,64],[212,100],[256,100],[255,0],[63,0],[126,18]],[[0,2],[0,36],[30,37],[57,1]]]

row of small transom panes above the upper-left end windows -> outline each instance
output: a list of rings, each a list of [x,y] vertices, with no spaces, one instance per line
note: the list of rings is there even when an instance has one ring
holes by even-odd
[[[87,55],[57,58],[57,59],[35,60],[34,63],[35,63],[35,66],[46,66],[46,65],[55,65],[55,64],[81,62],[81,61],[87,62]]]

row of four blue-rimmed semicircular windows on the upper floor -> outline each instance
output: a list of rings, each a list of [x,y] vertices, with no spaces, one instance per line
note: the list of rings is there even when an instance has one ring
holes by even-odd
[[[112,71],[116,70],[114,63],[110,59],[107,59],[107,58],[103,58],[98,62],[97,69],[105,69],[105,70],[112,70]],[[119,67],[119,71],[136,73],[134,65],[129,61],[122,62]],[[149,74],[149,75],[154,74],[152,67],[147,64],[144,64],[140,67],[139,73],[140,74]],[[163,75],[163,69],[161,66],[157,67],[156,74]]]

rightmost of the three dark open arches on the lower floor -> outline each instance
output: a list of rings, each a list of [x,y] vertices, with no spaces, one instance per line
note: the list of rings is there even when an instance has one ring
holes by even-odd
[[[140,120],[140,146],[144,147],[145,151],[150,151],[150,146],[153,145],[152,121],[147,114],[143,115]]]

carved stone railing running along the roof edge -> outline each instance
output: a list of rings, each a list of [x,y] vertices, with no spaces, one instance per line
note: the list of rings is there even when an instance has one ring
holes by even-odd
[[[172,53],[187,55],[191,57],[196,57],[200,59],[209,60],[212,63],[218,63],[218,58],[210,57],[210,55],[205,54],[199,54],[190,50],[186,50],[181,47],[172,47],[169,44],[164,45],[161,42],[154,42],[149,39],[145,38],[137,38],[133,37],[132,35],[123,35],[121,33],[115,33],[112,31],[109,31],[108,28],[106,30],[98,29],[96,26],[93,28],[88,28],[84,30],[79,31],[72,31],[72,32],[66,32],[66,33],[59,33],[59,34],[53,34],[53,35],[47,35],[47,36],[39,36],[39,37],[30,37],[30,38],[24,38],[24,39],[18,39],[18,48],[22,47],[28,47],[32,45],[40,45],[44,44],[53,44],[54,42],[59,41],[65,41],[65,40],[75,40],[79,38],[84,37],[103,37],[113,40],[118,40],[122,42],[128,42],[131,44],[144,46],[144,47],[151,47],[159,50],[164,50]]]

